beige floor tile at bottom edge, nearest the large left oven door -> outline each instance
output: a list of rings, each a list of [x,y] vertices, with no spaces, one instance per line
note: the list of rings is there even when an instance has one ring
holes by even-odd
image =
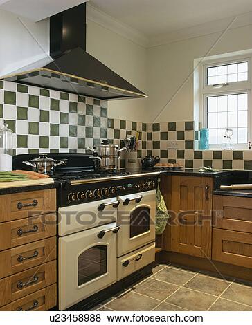
[[[156,299],[129,292],[111,301],[106,307],[117,311],[150,311],[158,304],[159,301]]]

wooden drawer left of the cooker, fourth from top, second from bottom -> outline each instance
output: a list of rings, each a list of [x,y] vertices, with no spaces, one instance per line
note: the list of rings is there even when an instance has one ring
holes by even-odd
[[[44,263],[11,277],[0,280],[0,306],[30,295],[37,290],[51,286],[57,281],[56,261]]]

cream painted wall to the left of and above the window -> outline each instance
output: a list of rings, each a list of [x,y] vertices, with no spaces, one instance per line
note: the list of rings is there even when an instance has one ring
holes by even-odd
[[[147,50],[147,120],[193,120],[194,59],[252,48],[252,25]],[[218,41],[219,39],[219,41]],[[216,44],[215,44],[216,43]],[[164,108],[164,109],[163,109]],[[161,115],[159,112],[162,111]],[[159,115],[159,116],[158,116]]]

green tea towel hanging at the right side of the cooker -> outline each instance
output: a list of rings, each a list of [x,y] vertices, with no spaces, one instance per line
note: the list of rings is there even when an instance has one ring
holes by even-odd
[[[156,234],[163,234],[169,218],[170,215],[158,185],[156,189]]]

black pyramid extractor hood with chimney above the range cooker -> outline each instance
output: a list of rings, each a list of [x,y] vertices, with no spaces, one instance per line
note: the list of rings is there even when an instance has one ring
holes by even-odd
[[[1,79],[102,100],[147,97],[86,52],[86,3],[50,18],[50,57],[45,65],[35,62]]]

